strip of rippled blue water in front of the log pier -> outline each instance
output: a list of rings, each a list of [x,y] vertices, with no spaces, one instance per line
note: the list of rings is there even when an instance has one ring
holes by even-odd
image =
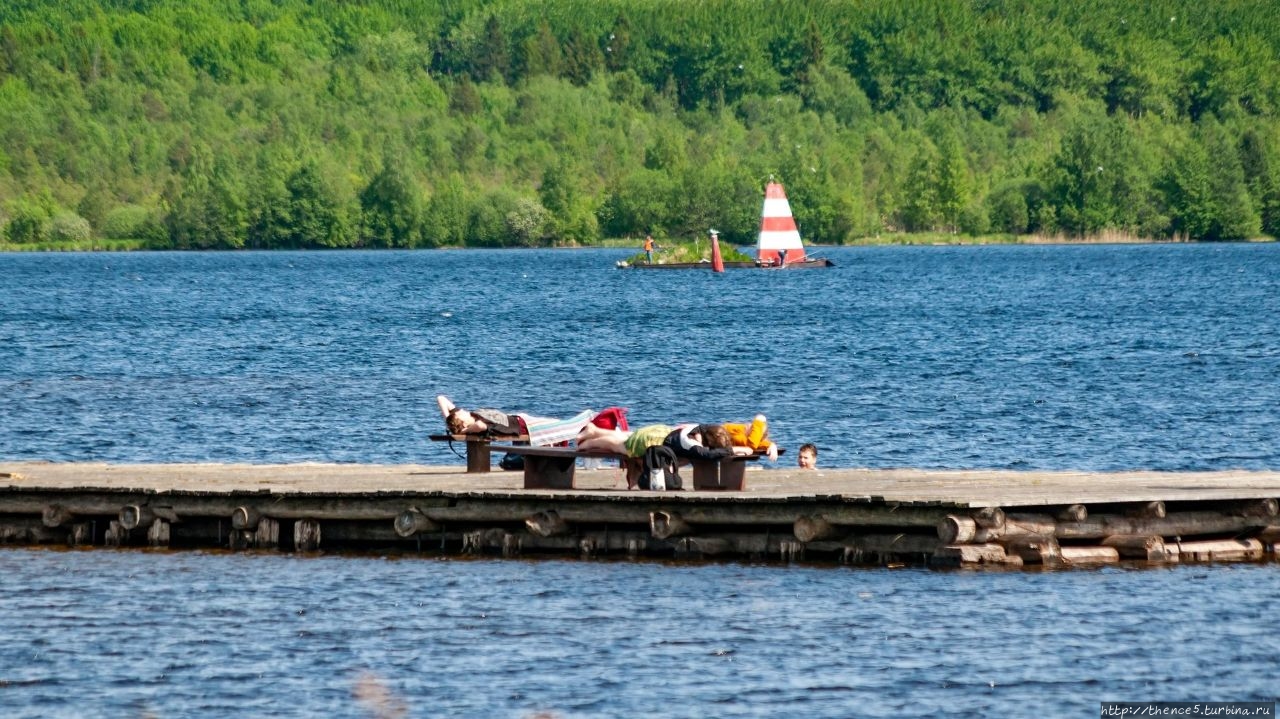
[[[19,716],[1093,715],[1274,701],[1280,565],[0,551]]]

